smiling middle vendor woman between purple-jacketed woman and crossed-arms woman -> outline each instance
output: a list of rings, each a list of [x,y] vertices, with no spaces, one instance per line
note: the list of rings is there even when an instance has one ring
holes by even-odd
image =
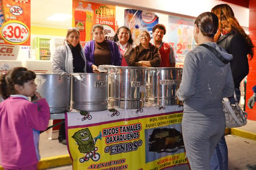
[[[132,45],[134,40],[132,40],[130,29],[126,26],[119,27],[114,37],[114,41],[117,43],[122,55],[121,65],[128,66],[130,53],[132,52],[132,48],[134,48],[134,45]]]

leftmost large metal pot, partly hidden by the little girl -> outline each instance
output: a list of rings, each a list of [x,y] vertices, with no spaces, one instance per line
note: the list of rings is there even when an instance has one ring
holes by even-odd
[[[37,73],[37,91],[44,97],[51,113],[70,111],[71,74]]]

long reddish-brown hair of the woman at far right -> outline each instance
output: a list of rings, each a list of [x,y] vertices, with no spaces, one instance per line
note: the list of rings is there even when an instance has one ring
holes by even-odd
[[[239,22],[235,18],[234,12],[232,8],[228,4],[219,4],[214,6],[211,9],[211,12],[216,14],[219,18],[219,29],[217,30],[217,34],[214,36],[214,41],[217,42],[222,34],[227,34],[229,32],[235,32],[241,34],[245,38],[245,42],[249,47],[249,59],[251,60],[254,57],[254,44],[250,39],[249,35],[247,35],[244,29],[239,25]]]

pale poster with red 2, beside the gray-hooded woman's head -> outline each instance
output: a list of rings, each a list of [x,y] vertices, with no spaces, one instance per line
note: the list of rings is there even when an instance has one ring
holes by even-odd
[[[176,53],[176,67],[183,68],[186,53],[194,48],[194,20],[169,16],[168,42]]]

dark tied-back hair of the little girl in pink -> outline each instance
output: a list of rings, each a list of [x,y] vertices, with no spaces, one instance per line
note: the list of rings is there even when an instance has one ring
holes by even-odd
[[[0,76],[0,94],[2,98],[7,99],[11,94],[16,94],[15,84],[23,86],[24,83],[32,79],[35,79],[34,71],[24,67],[16,67],[7,73],[2,73]]]

